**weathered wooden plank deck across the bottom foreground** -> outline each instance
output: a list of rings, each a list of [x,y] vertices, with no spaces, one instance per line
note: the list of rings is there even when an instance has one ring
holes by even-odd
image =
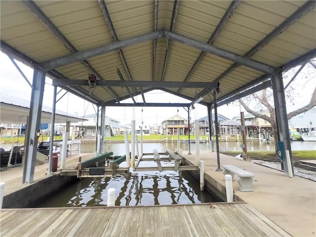
[[[2,209],[0,236],[289,236],[247,203]]]

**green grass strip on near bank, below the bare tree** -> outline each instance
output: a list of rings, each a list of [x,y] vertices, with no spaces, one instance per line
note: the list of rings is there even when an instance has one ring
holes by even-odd
[[[241,152],[221,152],[222,154],[236,157]],[[265,159],[275,160],[276,153],[273,151],[250,151],[248,158],[250,159]],[[295,160],[311,160],[316,159],[316,151],[292,151],[292,159]]]

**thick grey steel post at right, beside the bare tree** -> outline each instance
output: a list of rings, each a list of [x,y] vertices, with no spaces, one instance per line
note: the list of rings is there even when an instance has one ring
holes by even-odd
[[[285,95],[284,95],[284,90],[283,90],[283,79],[282,79],[281,72],[278,72],[276,75],[272,77],[272,86],[273,86],[273,97],[274,97],[275,108],[276,108],[276,124],[277,124],[278,138],[280,142],[283,142],[284,157],[286,153],[289,154],[288,158],[283,158],[284,175],[287,177],[290,177],[289,173],[294,174],[294,170],[293,170],[290,135],[289,135],[289,129],[288,129],[288,123],[287,123],[286,102],[285,102]]]

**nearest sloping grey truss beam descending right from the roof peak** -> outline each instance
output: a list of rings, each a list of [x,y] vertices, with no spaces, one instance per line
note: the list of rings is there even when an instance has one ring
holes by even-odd
[[[171,40],[176,40],[178,42],[190,45],[192,47],[198,48],[202,51],[212,53],[214,55],[217,55],[219,57],[231,60],[235,63],[238,63],[240,65],[247,66],[249,68],[264,72],[264,73],[269,73],[269,74],[274,74],[278,70],[277,68],[274,68],[268,64],[258,62],[256,60],[247,58],[245,56],[238,55],[236,53],[232,53],[230,51],[214,47],[210,44],[203,43],[197,40],[194,40],[192,38],[182,36],[170,31],[165,31],[164,35],[166,38],[171,39]]]

